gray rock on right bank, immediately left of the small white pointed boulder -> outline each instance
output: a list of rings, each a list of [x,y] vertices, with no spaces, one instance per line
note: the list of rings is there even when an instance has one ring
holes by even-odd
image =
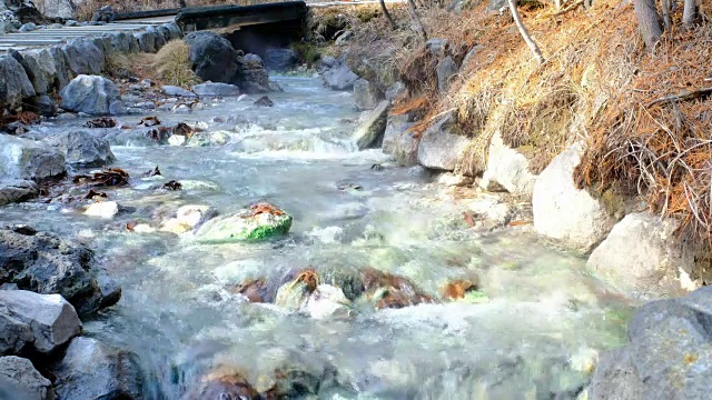
[[[469,144],[469,139],[458,133],[453,114],[426,129],[418,144],[418,163],[429,169],[453,171]]]

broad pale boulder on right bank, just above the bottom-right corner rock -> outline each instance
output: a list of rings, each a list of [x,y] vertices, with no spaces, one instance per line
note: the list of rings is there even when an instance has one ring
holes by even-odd
[[[676,229],[672,219],[650,212],[630,213],[591,253],[586,266],[627,296],[684,294],[712,280],[710,268],[705,267],[705,249],[681,240]]]

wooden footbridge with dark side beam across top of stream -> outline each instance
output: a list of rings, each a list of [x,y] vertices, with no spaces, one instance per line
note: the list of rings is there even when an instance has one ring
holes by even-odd
[[[388,2],[402,2],[402,0],[388,0]],[[291,32],[291,34],[294,34],[294,31],[301,27],[308,8],[368,3],[377,3],[377,1],[322,1],[309,2],[308,4],[304,1],[286,1],[253,6],[207,6],[117,13],[116,18],[106,24],[50,27],[31,32],[16,32],[0,36],[0,53],[9,49],[23,50],[61,44],[71,39],[101,37],[105,33],[135,33],[145,30],[147,27],[158,27],[170,22],[176,22],[186,33],[197,30],[230,27],[234,31],[248,31],[246,36],[250,38],[264,37],[269,33],[271,33],[269,36],[274,37],[274,33],[278,32]]]

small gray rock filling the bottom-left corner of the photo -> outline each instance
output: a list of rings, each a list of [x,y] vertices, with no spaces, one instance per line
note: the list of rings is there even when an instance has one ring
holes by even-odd
[[[49,400],[53,399],[52,382],[42,377],[28,359],[8,356],[0,357],[0,380],[7,381],[21,392],[22,400]],[[6,399],[0,396],[0,398]],[[8,399],[9,400],[9,399]]]

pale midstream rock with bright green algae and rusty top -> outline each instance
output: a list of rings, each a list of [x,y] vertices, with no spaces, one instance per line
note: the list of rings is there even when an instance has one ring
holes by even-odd
[[[266,203],[207,221],[196,233],[202,242],[264,240],[287,234],[291,216]]]

